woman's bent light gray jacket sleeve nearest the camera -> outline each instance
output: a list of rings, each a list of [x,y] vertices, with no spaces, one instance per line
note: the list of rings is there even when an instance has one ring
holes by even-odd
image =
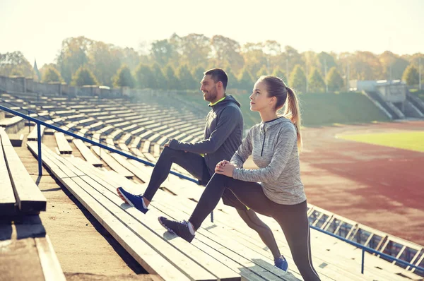
[[[290,154],[293,151],[294,145],[297,142],[297,134],[294,126],[285,126],[278,133],[278,140],[274,153],[271,158],[271,162],[265,168],[261,169],[241,169],[236,168],[232,172],[234,179],[240,179],[242,181],[254,181],[254,182],[272,182],[276,181],[280,177],[281,172],[287,164]]]

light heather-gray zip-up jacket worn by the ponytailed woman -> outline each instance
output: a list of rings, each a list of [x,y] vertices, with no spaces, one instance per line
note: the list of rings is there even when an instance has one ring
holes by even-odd
[[[295,125],[285,117],[253,126],[231,161],[234,179],[259,182],[271,201],[295,205],[306,200],[298,155]],[[259,169],[243,169],[252,155]]]

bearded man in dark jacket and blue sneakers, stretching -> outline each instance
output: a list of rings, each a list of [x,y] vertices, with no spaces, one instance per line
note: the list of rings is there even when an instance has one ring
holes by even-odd
[[[231,95],[225,95],[228,76],[223,69],[213,68],[204,73],[200,90],[204,100],[208,101],[211,111],[206,116],[204,140],[196,143],[183,143],[171,139],[165,144],[165,149],[156,163],[151,180],[143,194],[131,194],[122,187],[117,189],[123,201],[147,213],[156,191],[170,173],[172,163],[183,167],[203,186],[208,184],[215,167],[221,160],[230,160],[242,143],[243,116],[240,103]],[[224,192],[223,203],[237,209],[240,217],[256,232],[268,246],[274,256],[275,265],[287,270],[287,262],[281,256],[271,229],[257,217],[253,210],[243,205],[228,189]],[[194,229],[191,229],[194,232]]]

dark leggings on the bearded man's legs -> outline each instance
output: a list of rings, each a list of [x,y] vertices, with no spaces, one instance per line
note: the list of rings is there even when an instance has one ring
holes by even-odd
[[[204,157],[195,153],[184,153],[182,150],[175,150],[166,147],[160,154],[158,162],[156,162],[156,165],[153,168],[151,180],[143,194],[143,197],[148,201],[152,201],[156,191],[158,191],[160,185],[163,184],[163,181],[165,181],[168,177],[172,163],[186,169],[187,172],[193,175],[193,177],[199,179],[201,183],[207,184],[211,179],[211,174],[208,171]],[[253,210],[247,209],[246,206],[242,204],[230,190],[220,191],[218,201],[221,196],[223,198],[223,203],[236,208],[237,213],[239,213],[240,217],[242,217],[246,224],[259,234],[259,237],[261,237],[262,241],[264,241],[264,244],[272,252],[273,258],[279,258],[281,254],[278,250],[276,239],[273,237],[273,233],[268,225],[262,222]],[[218,201],[216,201],[216,204]],[[206,216],[208,214],[206,214]]]

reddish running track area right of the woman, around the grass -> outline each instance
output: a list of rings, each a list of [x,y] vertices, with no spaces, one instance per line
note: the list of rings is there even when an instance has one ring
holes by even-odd
[[[424,153],[335,138],[403,130],[424,131],[424,121],[305,128],[300,165],[308,201],[424,245]]]

